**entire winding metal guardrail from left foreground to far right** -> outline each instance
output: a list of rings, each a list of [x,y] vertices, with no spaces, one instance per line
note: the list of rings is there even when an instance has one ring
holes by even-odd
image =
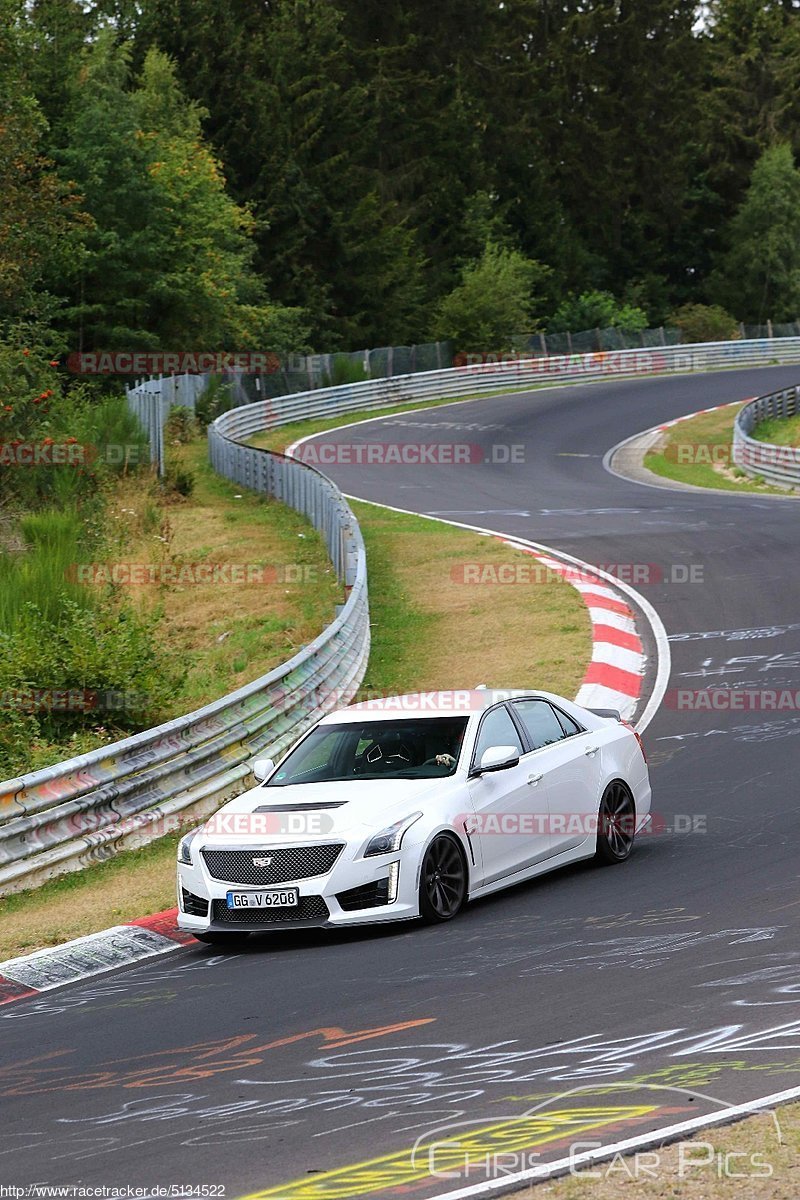
[[[349,588],[336,620],[261,679],[187,716],[114,745],[0,782],[0,893],[112,857],[201,820],[251,779],[249,760],[279,754],[327,708],[347,702],[369,649],[367,570],[359,526],[324,475],[241,442],[277,425],[414,401],[724,367],[800,362],[800,338],[482,362],[264,400],[224,413],[209,432],[213,467],[305,512]]]

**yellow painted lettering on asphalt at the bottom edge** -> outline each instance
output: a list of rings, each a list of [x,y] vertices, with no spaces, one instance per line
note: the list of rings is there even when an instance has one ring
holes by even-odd
[[[311,1178],[295,1180],[277,1188],[253,1192],[243,1200],[350,1200],[415,1183],[428,1177],[445,1182],[467,1182],[468,1168],[486,1164],[501,1154],[530,1150],[558,1141],[566,1134],[588,1133],[603,1126],[618,1124],[657,1111],[656,1104],[606,1108],[560,1109],[534,1116],[513,1117],[480,1129],[444,1135],[417,1142],[415,1147],[371,1158],[350,1166],[339,1166]],[[447,1128],[452,1128],[449,1126]]]

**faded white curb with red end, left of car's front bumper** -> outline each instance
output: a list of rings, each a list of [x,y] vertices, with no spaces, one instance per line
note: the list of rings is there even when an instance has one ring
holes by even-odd
[[[0,1006],[26,1000],[41,991],[114,971],[116,967],[168,954],[193,942],[176,924],[178,908],[113,925],[100,934],[77,937],[0,962]]]

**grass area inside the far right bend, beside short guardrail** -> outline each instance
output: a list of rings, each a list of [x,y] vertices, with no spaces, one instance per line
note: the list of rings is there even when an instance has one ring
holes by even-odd
[[[657,446],[644,456],[644,466],[654,475],[691,484],[693,487],[756,492],[759,496],[792,496],[790,491],[772,487],[733,464],[733,422],[741,407],[700,413],[664,430]],[[766,422],[759,426],[759,433],[765,425]]]

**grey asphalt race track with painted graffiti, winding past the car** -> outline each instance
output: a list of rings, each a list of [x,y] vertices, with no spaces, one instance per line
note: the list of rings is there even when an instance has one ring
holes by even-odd
[[[798,374],[563,388],[321,437],[524,445],[517,466],[327,470],[366,499],[657,564],[639,590],[670,689],[796,692],[796,502],[639,486],[602,456]],[[670,582],[688,564],[702,582]],[[515,683],[486,662],[480,679]],[[0,1009],[0,1182],[423,1200],[483,1182],[495,1152],[519,1170],[796,1085],[800,712],[664,703],[645,744],[662,832],[619,869],[546,876],[438,929],[187,947]]]

